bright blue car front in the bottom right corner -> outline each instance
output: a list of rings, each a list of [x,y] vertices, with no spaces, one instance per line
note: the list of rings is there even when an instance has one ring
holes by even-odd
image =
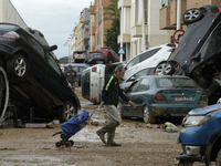
[[[179,164],[194,162],[221,165],[221,104],[196,108],[183,118],[183,129],[178,136],[182,153],[176,157]]]

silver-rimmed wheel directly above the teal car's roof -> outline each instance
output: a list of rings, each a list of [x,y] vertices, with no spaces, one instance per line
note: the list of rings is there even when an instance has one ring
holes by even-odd
[[[170,74],[173,74],[173,73],[175,73],[175,68],[169,62],[160,63],[155,69],[155,74],[156,75],[170,75]]]

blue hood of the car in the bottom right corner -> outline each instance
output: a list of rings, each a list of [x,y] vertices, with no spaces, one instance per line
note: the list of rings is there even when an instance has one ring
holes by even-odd
[[[188,114],[191,116],[196,116],[196,115],[207,115],[211,112],[221,110],[221,104],[213,104],[207,107],[200,107],[200,108],[194,108],[192,111],[190,111]]]

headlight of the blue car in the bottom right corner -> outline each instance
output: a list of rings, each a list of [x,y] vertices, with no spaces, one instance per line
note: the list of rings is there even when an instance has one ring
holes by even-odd
[[[200,126],[210,118],[209,115],[204,116],[187,116],[182,122],[183,127]]]

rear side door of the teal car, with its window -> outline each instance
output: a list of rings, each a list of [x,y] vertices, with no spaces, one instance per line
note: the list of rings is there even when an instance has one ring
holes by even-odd
[[[146,104],[148,100],[148,90],[149,90],[149,79],[144,77],[139,84],[137,85],[136,91],[130,93],[131,101],[137,105],[136,112],[130,108],[130,113],[136,116],[143,116],[143,106]]]

